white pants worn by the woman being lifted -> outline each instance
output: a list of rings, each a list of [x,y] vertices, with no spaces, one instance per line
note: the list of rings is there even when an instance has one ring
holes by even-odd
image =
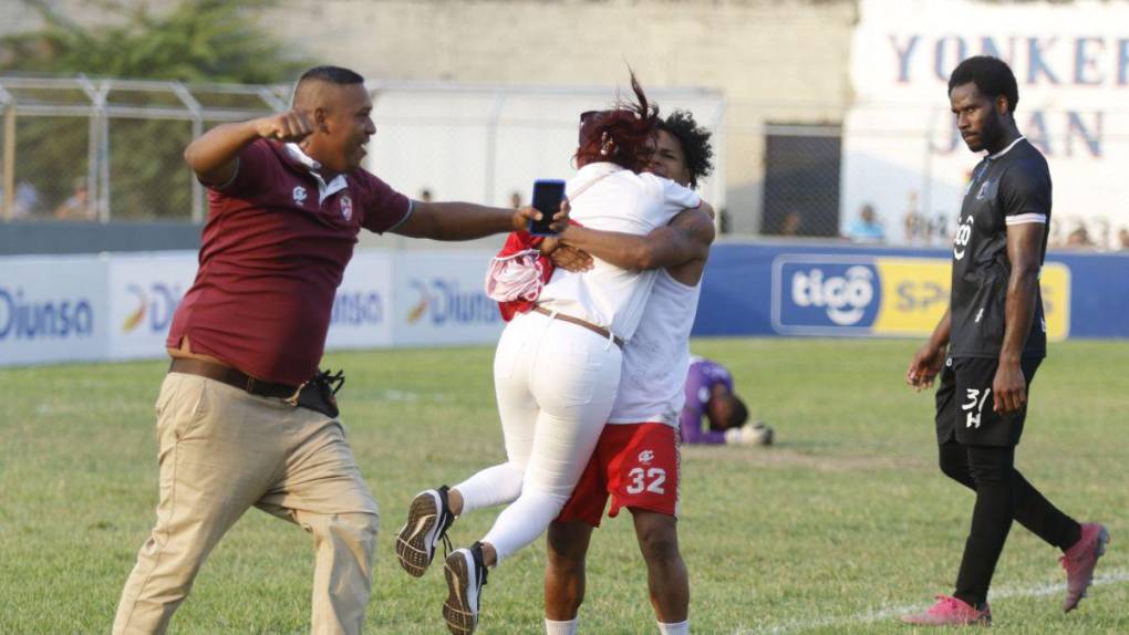
[[[620,364],[619,346],[581,326],[537,312],[506,326],[495,390],[508,460],[455,486],[463,513],[514,501],[482,539],[499,563],[535,540],[572,494],[615,403]]]

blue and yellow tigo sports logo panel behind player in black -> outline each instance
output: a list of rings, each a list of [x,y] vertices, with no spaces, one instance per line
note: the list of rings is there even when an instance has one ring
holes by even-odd
[[[772,326],[786,335],[927,336],[948,308],[947,258],[780,256],[773,263]],[[1040,277],[1047,336],[1070,328],[1070,270]]]

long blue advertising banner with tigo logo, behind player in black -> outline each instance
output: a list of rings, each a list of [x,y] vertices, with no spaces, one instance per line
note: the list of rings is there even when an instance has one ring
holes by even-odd
[[[948,308],[952,252],[843,245],[714,247],[693,335],[925,337]],[[1129,338],[1129,254],[1050,253],[1048,339]]]

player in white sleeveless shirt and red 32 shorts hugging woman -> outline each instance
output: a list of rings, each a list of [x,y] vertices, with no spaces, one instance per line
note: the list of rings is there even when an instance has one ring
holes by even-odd
[[[650,171],[697,187],[712,155],[709,131],[676,111],[659,125]],[[690,365],[690,329],[714,241],[707,211],[686,210],[646,237],[569,227],[562,242],[627,268],[658,268],[634,337],[623,350],[620,393],[572,497],[549,528],[545,632],[576,633],[585,555],[609,496],[628,508],[647,563],[647,585],[665,634],[690,632],[690,583],[679,552],[679,413]]]

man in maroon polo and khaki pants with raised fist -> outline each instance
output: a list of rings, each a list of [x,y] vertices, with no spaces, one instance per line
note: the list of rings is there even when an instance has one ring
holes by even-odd
[[[360,168],[371,111],[364,78],[318,67],[299,79],[290,112],[219,125],[184,152],[209,187],[209,215],[157,398],[157,522],[115,634],[165,632],[204,558],[252,505],[315,537],[313,632],[361,628],[377,505],[335,405],[324,403],[332,398],[305,407],[357,235],[461,240],[540,217],[392,189]]]

